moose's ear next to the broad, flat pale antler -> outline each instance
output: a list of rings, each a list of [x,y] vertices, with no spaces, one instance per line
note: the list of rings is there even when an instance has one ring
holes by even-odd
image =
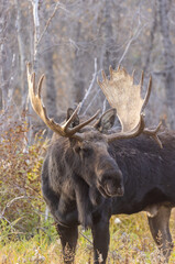
[[[99,130],[101,133],[107,132],[109,129],[111,129],[114,124],[116,119],[116,109],[109,109],[106,111],[100,119],[96,122],[95,128]]]

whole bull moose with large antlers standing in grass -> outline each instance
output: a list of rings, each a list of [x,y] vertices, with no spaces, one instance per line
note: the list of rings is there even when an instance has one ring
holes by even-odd
[[[147,212],[154,241],[167,263],[173,250],[171,210],[175,206],[175,133],[161,132],[160,124],[147,129],[139,85],[124,68],[102,70],[98,84],[111,109],[100,118],[79,117],[79,106],[67,110],[59,124],[47,116],[41,91],[44,75],[35,87],[35,74],[28,65],[32,107],[54,131],[42,168],[42,193],[56,222],[64,263],[74,263],[78,226],[92,232],[94,262],[105,264],[109,248],[109,219],[112,215]],[[112,129],[118,117],[121,131]],[[161,232],[161,235],[158,233]],[[100,256],[100,257],[99,257]]]

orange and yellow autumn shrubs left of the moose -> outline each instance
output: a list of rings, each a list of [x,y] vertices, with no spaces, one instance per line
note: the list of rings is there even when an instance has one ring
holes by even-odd
[[[35,135],[29,144],[29,133],[24,116],[14,121],[12,111],[1,114],[0,218],[25,234],[35,232],[45,210],[41,196],[45,142]]]

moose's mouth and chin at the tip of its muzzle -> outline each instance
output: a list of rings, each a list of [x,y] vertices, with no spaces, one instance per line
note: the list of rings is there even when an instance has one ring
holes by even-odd
[[[105,198],[124,195],[123,186],[114,187],[112,180],[107,182],[105,185],[99,185],[98,189]]]

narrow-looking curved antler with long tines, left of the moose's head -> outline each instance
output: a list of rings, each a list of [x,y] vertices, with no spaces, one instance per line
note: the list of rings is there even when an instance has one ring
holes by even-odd
[[[39,117],[44,121],[44,123],[54,132],[62,136],[67,138],[77,138],[78,140],[83,140],[83,136],[78,133],[76,134],[80,129],[89,124],[92,120],[95,120],[99,113],[99,111],[96,112],[91,118],[89,118],[87,121],[76,125],[75,128],[69,128],[70,123],[74,121],[79,107],[78,106],[70,118],[64,122],[62,125],[56,123],[53,119],[48,118],[46,113],[46,109],[43,105],[42,98],[41,98],[41,90],[42,90],[42,84],[44,79],[44,75],[39,80],[37,88],[35,89],[35,73],[30,73],[30,64],[26,64],[26,72],[28,72],[28,85],[29,85],[29,96],[30,100],[33,107],[33,110],[39,114]],[[76,135],[75,135],[76,134]]]

